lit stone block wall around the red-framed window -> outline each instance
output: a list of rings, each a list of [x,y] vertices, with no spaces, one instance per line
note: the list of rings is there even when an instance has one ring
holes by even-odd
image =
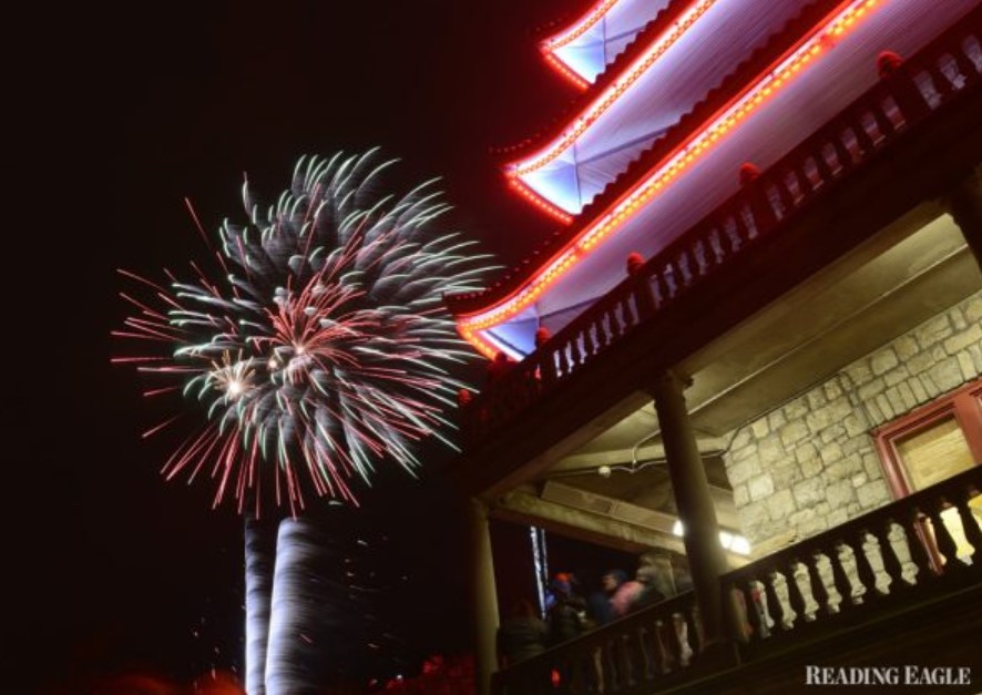
[[[889,502],[871,430],[980,375],[982,293],[739,428],[724,460],[755,551]]]

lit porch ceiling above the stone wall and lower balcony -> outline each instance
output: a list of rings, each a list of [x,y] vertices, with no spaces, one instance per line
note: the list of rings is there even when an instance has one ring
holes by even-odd
[[[938,205],[922,205],[678,365],[693,378],[686,400],[720,524],[738,528],[722,458],[736,428],[980,289],[959,228]],[[662,461],[647,403],[539,482],[675,514]],[[613,471],[601,476],[602,466]]]

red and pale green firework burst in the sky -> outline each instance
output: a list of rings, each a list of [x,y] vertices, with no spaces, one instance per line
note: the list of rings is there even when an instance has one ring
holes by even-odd
[[[475,355],[442,295],[477,289],[491,266],[431,231],[449,207],[434,182],[377,194],[390,164],[376,150],[304,157],[267,208],[246,183],[247,222],[222,225],[215,279],[193,263],[164,284],[121,272],[153,299],[123,294],[134,313],[114,335],[167,354],[114,361],[170,380],[147,395],[180,390],[206,413],[168,479],[206,471],[216,505],[231,495],[242,511],[267,489],[296,514],[305,491],[354,501],[350,481],[381,461],[417,470],[423,438],[452,446],[442,413],[464,385],[451,371]]]

